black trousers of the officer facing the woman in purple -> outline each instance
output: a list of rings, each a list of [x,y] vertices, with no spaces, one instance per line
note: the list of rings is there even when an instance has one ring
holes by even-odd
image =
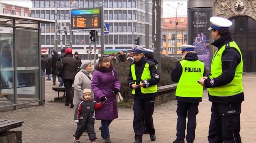
[[[135,133],[135,140],[142,140],[143,126],[142,116],[144,111],[145,127],[148,129],[150,135],[155,135],[155,128],[153,125],[155,97],[149,99],[134,98],[133,102],[133,130]]]

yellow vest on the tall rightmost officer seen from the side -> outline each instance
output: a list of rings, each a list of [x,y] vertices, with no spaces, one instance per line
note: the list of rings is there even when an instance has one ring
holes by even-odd
[[[230,48],[236,48],[241,55],[241,61],[236,67],[234,79],[229,84],[222,85],[219,87],[208,88],[208,92],[211,96],[227,97],[243,92],[243,58],[239,47],[234,41],[230,42],[229,45],[222,46],[218,51],[216,51],[216,53],[214,54],[214,58],[212,59],[211,76],[209,77],[212,79],[222,74],[221,58],[223,51],[226,49],[226,46],[229,46]]]

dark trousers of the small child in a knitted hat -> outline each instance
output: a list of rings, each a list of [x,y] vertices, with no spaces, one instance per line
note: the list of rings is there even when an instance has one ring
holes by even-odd
[[[80,136],[83,134],[84,130],[87,131],[89,140],[90,141],[95,141],[96,140],[96,134],[94,131],[94,118],[93,114],[91,115],[84,115],[83,120],[79,120],[77,123],[77,129],[75,133],[76,138],[80,138]]]

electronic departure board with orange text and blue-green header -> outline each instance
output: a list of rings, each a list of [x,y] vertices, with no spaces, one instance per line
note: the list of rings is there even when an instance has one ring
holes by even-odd
[[[72,29],[93,29],[101,28],[100,9],[72,9]]]

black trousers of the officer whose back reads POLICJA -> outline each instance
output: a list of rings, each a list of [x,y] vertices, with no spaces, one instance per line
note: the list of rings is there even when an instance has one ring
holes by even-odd
[[[195,128],[197,126],[196,115],[198,113],[199,102],[190,103],[177,101],[177,140],[184,140],[187,122],[186,140],[193,142],[195,140]]]

